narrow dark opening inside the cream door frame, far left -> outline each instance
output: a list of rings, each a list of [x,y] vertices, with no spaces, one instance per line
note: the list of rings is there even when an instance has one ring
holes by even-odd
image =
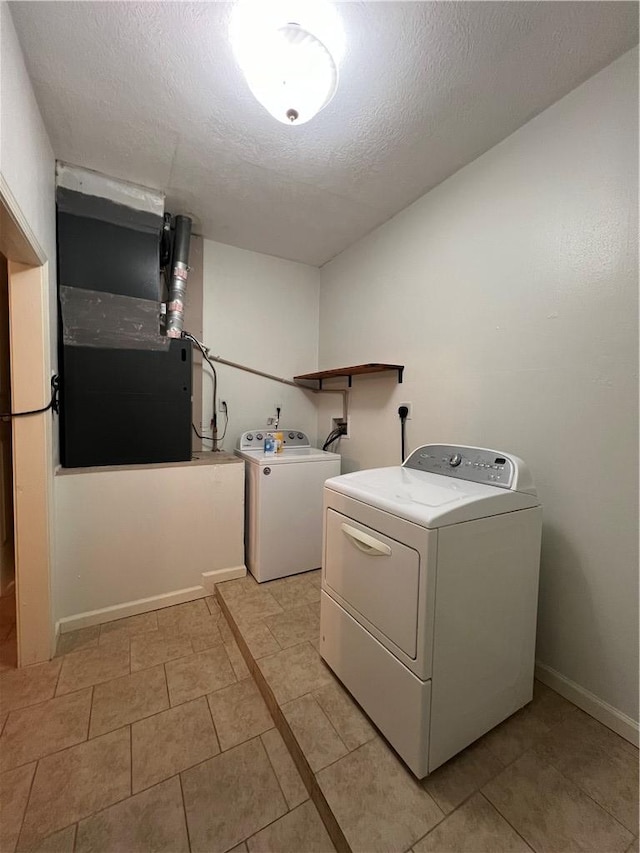
[[[9,275],[0,254],[0,412],[11,411]],[[17,666],[11,421],[0,418],[0,672]]]

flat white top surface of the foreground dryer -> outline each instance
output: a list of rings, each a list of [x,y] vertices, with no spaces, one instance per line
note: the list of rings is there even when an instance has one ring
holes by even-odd
[[[355,471],[331,477],[325,488],[422,527],[444,527],[539,505],[535,495],[413,468]]]

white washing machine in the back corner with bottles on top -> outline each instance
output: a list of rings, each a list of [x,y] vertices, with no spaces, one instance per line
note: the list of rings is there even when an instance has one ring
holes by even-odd
[[[297,429],[278,429],[284,449],[266,454],[266,432],[243,433],[236,449],[245,461],[245,558],[259,582],[320,567],[322,490],[341,461]]]

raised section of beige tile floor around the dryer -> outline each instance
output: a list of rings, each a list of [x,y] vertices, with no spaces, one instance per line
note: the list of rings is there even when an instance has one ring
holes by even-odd
[[[319,585],[318,572],[248,576],[217,592],[353,851],[638,850],[638,750],[538,682],[530,705],[418,783],[321,661]]]

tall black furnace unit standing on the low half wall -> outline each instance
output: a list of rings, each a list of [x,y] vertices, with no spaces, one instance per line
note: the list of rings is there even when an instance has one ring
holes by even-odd
[[[63,187],[56,205],[63,466],[190,459],[191,344],[160,330],[162,216]],[[176,217],[183,279],[190,228]]]

